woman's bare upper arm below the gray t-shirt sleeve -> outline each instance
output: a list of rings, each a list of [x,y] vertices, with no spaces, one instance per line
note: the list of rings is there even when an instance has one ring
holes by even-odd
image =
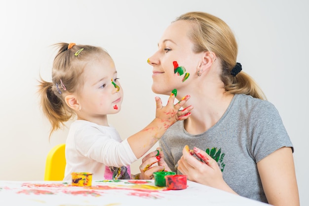
[[[269,204],[299,206],[293,153],[281,147],[257,163],[263,189]]]

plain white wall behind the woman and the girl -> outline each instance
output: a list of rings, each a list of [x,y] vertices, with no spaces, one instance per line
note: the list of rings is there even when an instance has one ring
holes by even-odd
[[[125,95],[122,110],[109,119],[124,139],[154,118],[147,59],[163,30],[175,17],[196,10],[220,17],[234,31],[237,61],[279,110],[294,144],[301,205],[309,205],[306,0],[1,1],[0,179],[42,180],[49,149],[66,140],[68,129],[48,140],[50,125],[36,93],[39,73],[51,79],[55,50],[50,45],[76,42],[108,50]],[[133,172],[140,163],[132,165]]]

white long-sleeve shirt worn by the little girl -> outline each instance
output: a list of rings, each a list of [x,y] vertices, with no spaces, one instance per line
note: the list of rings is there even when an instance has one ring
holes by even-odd
[[[122,141],[114,127],[76,120],[66,141],[64,180],[71,180],[72,172],[91,172],[93,180],[113,179],[109,167],[122,166],[130,175],[130,164],[136,160],[127,139]]]

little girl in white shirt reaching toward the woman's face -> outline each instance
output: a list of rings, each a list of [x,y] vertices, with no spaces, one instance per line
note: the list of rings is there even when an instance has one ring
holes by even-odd
[[[52,82],[41,79],[39,93],[51,133],[77,116],[66,140],[64,180],[72,179],[72,172],[91,172],[94,180],[130,179],[129,165],[144,155],[172,124],[190,116],[192,106],[179,110],[190,96],[174,105],[175,96],[171,94],[166,106],[156,97],[154,120],[121,141],[107,118],[120,111],[123,100],[110,55],[95,46],[56,45],[59,52],[53,62]]]

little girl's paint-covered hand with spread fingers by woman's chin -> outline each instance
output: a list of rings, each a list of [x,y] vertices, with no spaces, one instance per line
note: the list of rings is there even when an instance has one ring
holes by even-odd
[[[175,95],[172,93],[168,99],[166,106],[162,105],[161,99],[159,97],[155,97],[156,102],[156,111],[155,118],[160,119],[165,124],[165,127],[168,128],[178,120],[185,120],[191,115],[191,110],[193,106],[190,105],[183,110],[179,110],[188,100],[190,99],[190,95],[182,98],[181,101],[174,104]]]

